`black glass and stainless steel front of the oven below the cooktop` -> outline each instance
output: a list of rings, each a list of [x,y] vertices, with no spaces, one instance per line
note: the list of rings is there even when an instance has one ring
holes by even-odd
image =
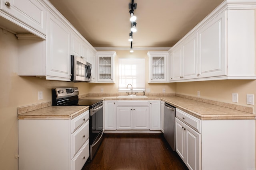
[[[90,159],[96,153],[103,135],[103,102],[90,109]]]

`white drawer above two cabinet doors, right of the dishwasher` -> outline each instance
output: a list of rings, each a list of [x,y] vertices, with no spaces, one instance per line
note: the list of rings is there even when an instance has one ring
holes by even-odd
[[[201,133],[201,120],[176,108],[176,117]]]

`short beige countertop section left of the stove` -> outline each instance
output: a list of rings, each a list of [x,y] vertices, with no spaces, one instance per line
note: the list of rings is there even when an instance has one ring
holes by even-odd
[[[89,106],[48,106],[18,114],[18,119],[73,119],[89,109]]]

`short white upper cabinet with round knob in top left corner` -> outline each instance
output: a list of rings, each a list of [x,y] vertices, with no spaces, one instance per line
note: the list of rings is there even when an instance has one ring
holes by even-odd
[[[0,10],[0,16],[45,39],[46,9],[38,1],[1,0]]]

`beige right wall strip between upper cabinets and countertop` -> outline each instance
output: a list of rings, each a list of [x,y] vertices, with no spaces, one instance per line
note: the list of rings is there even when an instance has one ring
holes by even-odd
[[[255,107],[246,104],[246,94],[254,94],[254,98],[256,97],[256,80],[182,82],[176,85],[178,94],[197,97],[197,91],[200,91],[200,98]],[[238,103],[232,102],[232,93],[238,93]]]

